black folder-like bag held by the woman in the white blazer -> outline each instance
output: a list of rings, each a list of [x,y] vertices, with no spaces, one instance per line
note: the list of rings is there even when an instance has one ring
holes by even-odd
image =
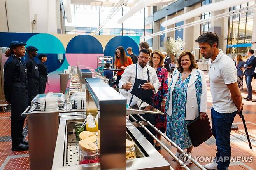
[[[199,146],[212,136],[212,129],[210,127],[207,114],[204,120],[201,120],[200,116],[198,116],[189,122],[187,128],[189,137],[194,147]]]

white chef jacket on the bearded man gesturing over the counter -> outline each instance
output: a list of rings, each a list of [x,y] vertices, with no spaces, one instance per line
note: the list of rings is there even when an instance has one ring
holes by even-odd
[[[132,83],[132,87],[130,90],[128,90],[128,92],[130,93],[132,91],[134,82],[135,82],[135,76],[136,76],[136,64],[132,64],[126,67],[126,69],[124,70],[124,73],[122,74],[122,78],[121,80],[119,80],[119,87],[121,88],[122,85],[124,83]],[[141,79],[141,80],[147,80],[147,69],[149,70],[149,82],[153,84],[153,86],[155,87],[155,90],[153,90],[154,94],[156,94],[156,92],[158,91],[158,88],[160,87],[161,83],[158,80],[158,77],[156,75],[156,70],[149,66],[146,65],[144,66],[144,68],[142,68],[139,64],[137,64],[137,79]],[[128,95],[128,99],[130,99],[132,96],[132,94]],[[132,102],[137,102],[138,98],[137,97],[133,97]],[[127,102],[128,102],[127,99]],[[129,100],[130,102],[130,100]]]

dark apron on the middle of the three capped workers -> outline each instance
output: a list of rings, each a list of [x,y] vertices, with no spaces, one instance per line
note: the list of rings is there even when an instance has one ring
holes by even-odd
[[[37,63],[33,59],[31,59],[31,60],[32,60],[31,61],[32,62],[32,71],[31,71],[31,75],[28,75],[28,104],[31,104],[31,101],[38,94],[38,88],[39,88],[38,87],[38,78],[39,78],[38,66],[37,66]]]

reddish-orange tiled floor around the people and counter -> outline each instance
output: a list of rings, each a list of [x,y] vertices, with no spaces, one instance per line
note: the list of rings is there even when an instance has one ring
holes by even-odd
[[[207,78],[207,77],[206,77]],[[207,98],[207,108],[208,115],[210,115],[210,108],[212,98],[210,95],[210,87],[208,88],[208,98]],[[242,91],[242,97],[246,97],[247,92]],[[254,99],[256,99],[256,94],[254,93]],[[230,163],[230,170],[254,170],[256,169],[256,103],[251,101],[244,102],[244,117],[247,123],[247,129],[251,138],[252,149],[249,149],[249,145],[247,142],[247,138],[245,135],[244,126],[242,124],[242,120],[239,116],[235,117],[234,124],[236,124],[239,129],[231,131],[231,156],[234,158],[238,156],[252,156],[251,162],[242,162],[236,161]],[[11,120],[9,119],[10,112],[0,112],[0,170],[27,170],[29,169],[29,152],[28,151],[11,151]],[[209,116],[210,118],[210,116]],[[26,136],[26,140],[28,140],[27,135],[27,126],[26,121],[24,125],[23,134]],[[170,146],[165,139],[162,139],[163,143],[168,146],[168,148],[176,153],[175,147]],[[205,161],[204,156],[215,156],[216,153],[216,143],[214,137],[211,137],[202,145],[193,148],[192,156],[198,158],[198,160],[202,160],[200,162],[201,165],[208,163],[209,161]],[[175,170],[184,169],[179,163],[172,161],[172,157],[164,150],[161,149],[159,151],[163,157],[170,163],[170,165]],[[249,160],[250,161],[250,160]],[[188,165],[190,169],[198,170],[194,164]]]

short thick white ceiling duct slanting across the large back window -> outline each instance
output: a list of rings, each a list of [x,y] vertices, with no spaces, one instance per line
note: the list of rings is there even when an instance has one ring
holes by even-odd
[[[130,18],[133,16],[135,13],[137,13],[139,10],[151,5],[154,3],[156,0],[140,0],[137,2],[134,7],[132,7],[126,14],[124,14],[118,21],[118,24],[122,24],[126,19]]]

